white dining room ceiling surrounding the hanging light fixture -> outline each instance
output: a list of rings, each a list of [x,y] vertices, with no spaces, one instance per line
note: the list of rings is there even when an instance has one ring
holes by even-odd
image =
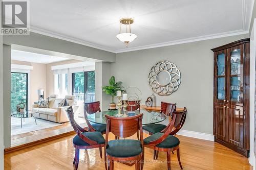
[[[30,1],[32,31],[110,52],[248,33],[254,0]],[[126,49],[119,19],[135,21]]]

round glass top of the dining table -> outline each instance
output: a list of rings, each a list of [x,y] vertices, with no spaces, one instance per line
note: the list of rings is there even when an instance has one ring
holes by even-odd
[[[142,125],[156,124],[166,119],[165,114],[159,113],[159,112],[146,111],[146,110],[140,110],[140,111],[136,110],[132,112],[127,111],[128,117],[135,116],[140,113],[143,113]],[[102,111],[102,112],[97,112],[94,114],[87,115],[87,118],[92,123],[106,125],[106,118],[105,118],[106,114],[110,116],[120,117],[120,116],[116,116],[118,114],[117,110],[109,110],[109,111]]]

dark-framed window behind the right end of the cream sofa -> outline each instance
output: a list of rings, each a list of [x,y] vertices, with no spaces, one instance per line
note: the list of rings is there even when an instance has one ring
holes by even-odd
[[[95,101],[95,71],[72,74],[72,95],[76,96],[77,101]]]

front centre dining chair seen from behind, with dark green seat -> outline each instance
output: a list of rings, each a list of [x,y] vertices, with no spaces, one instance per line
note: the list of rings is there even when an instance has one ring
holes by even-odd
[[[142,131],[142,116],[139,114],[132,117],[106,117],[106,135],[104,147],[104,159],[108,157],[109,169],[114,169],[114,161],[127,163],[135,162],[135,169],[139,170],[143,167],[144,148],[143,148],[143,131]],[[109,132],[115,136],[126,138],[140,131],[140,139],[119,139],[109,141]],[[105,164],[106,168],[106,164]],[[107,168],[106,168],[107,170]],[[142,170],[142,168],[141,168]]]

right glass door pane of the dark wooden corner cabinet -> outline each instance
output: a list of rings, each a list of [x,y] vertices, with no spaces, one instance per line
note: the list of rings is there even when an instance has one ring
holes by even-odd
[[[243,45],[229,50],[229,99],[230,102],[243,102]]]

